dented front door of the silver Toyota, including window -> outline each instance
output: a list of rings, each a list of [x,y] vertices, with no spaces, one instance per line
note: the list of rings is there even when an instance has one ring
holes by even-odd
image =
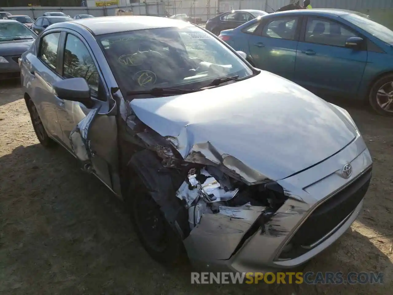
[[[58,111],[63,141],[78,159],[84,161],[86,170],[93,172],[116,194],[120,194],[116,112],[112,109],[115,105],[104,87],[94,55],[83,37],[77,33],[63,34],[62,79],[83,77],[90,86],[92,98],[92,105],[89,106],[64,100]],[[81,149],[88,151],[87,161],[79,156],[78,150]]]

